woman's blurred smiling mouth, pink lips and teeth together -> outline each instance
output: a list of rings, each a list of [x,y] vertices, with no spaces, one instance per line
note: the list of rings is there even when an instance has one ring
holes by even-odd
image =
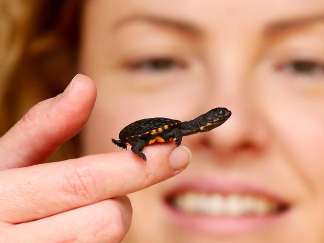
[[[283,220],[291,204],[279,197],[242,184],[211,185],[189,182],[164,197],[173,223],[189,230],[212,233],[256,231]]]

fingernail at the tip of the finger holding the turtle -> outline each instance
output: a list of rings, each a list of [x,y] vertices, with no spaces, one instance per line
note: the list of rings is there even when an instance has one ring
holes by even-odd
[[[170,155],[170,165],[174,170],[186,167],[191,160],[191,151],[184,145],[174,148]]]

